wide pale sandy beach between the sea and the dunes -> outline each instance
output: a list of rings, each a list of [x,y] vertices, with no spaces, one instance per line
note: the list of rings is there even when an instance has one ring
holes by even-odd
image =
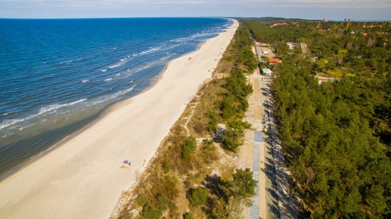
[[[90,127],[3,180],[0,218],[109,218],[122,191],[134,183],[136,172],[147,167],[189,97],[211,77],[238,25],[235,21],[197,51],[172,60],[151,89],[115,105]],[[123,158],[134,164],[119,168]]]

